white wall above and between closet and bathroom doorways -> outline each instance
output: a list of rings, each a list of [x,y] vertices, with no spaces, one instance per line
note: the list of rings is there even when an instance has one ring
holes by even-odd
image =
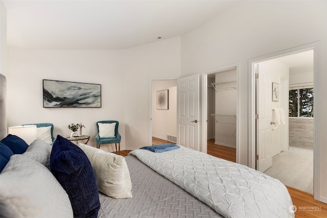
[[[182,36],[182,76],[200,74],[204,70],[240,64],[240,163],[248,165],[249,78],[248,60],[320,41],[319,84],[316,107],[319,120],[327,120],[327,2],[324,1],[244,1],[217,15],[198,29]],[[324,85],[323,85],[324,84]],[[318,120],[317,120],[318,121]],[[327,132],[326,122],[317,122],[320,132],[320,199],[327,202]]]

